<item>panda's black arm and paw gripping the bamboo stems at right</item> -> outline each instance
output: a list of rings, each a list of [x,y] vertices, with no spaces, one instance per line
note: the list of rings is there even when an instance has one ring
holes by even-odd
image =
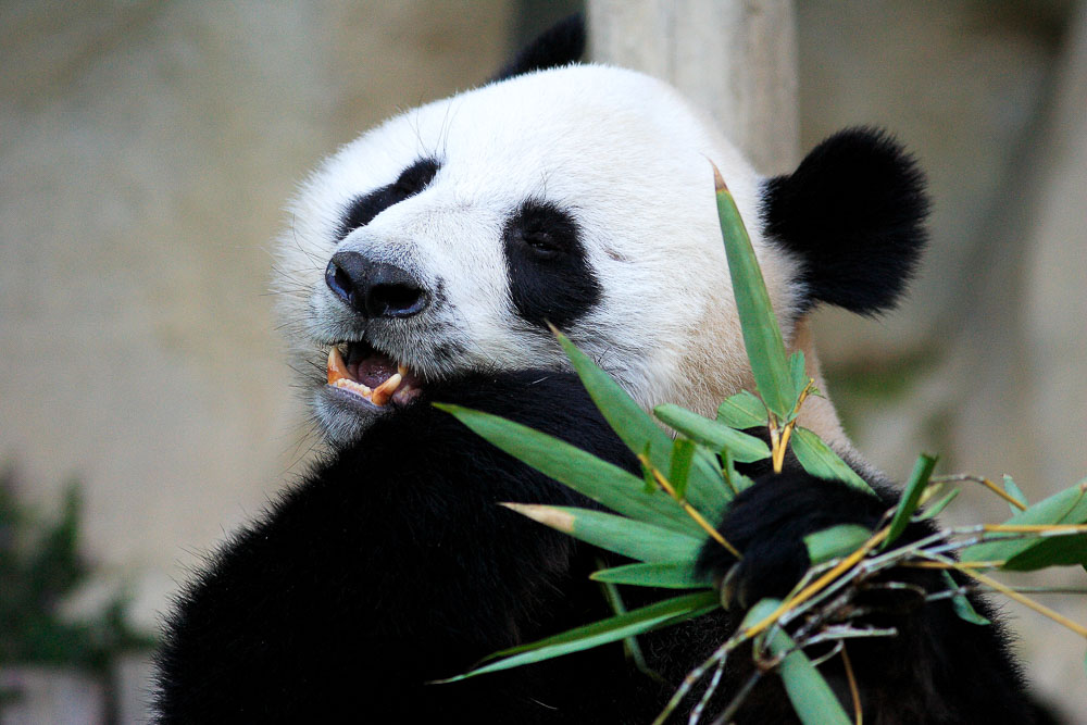
[[[760,476],[733,501],[719,527],[744,559],[737,562],[710,541],[700,565],[717,582],[736,567],[729,588],[737,616],[764,597],[784,598],[810,566],[805,535],[837,524],[874,529],[895,505],[889,489],[874,486],[879,498],[799,470]],[[930,522],[914,523],[903,540],[917,540],[933,530]],[[946,588],[941,575],[929,570],[897,568],[880,580],[891,579],[929,592]],[[996,612],[980,598],[971,599],[992,624],[967,623],[954,613],[950,600],[924,603],[915,591],[877,590],[862,601],[872,607],[865,624],[898,630],[895,637],[847,643],[866,722],[1040,722]],[[849,702],[840,658],[822,671]]]

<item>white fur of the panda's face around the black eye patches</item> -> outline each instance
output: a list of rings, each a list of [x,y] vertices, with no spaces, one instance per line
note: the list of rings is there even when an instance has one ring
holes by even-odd
[[[420,158],[441,168],[421,193],[336,245],[343,210]],[[279,243],[279,312],[307,393],[320,401],[328,346],[362,329],[326,288],[337,249],[439,285],[440,305],[371,342],[425,379],[480,368],[562,367],[546,332],[516,316],[502,257],[521,201],[575,217],[600,304],[566,332],[646,408],[710,413],[749,382],[713,195],[713,162],[747,220],[783,321],[800,290],[794,262],[763,242],[762,179],[676,91],[648,76],[579,65],[518,76],[408,111],[341,148],[289,207]],[[790,329],[784,330],[786,336]],[[429,351],[463,354],[440,365]],[[365,422],[316,405],[334,439]]]

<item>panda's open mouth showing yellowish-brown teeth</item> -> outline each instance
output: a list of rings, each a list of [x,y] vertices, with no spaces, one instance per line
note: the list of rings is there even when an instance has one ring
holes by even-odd
[[[385,408],[407,405],[422,395],[421,380],[408,366],[378,352],[365,342],[348,342],[346,350],[334,345],[328,350],[328,385]]]

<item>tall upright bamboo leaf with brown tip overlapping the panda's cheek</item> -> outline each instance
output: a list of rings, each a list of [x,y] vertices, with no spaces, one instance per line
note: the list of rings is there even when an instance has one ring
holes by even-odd
[[[785,342],[777,326],[777,317],[770,303],[766,284],[759,268],[751,238],[736,208],[733,195],[714,167],[714,187],[717,197],[717,218],[725,241],[728,274],[733,280],[733,296],[744,330],[744,346],[754,374],[759,395],[766,407],[779,418],[792,412],[796,396],[785,360]]]

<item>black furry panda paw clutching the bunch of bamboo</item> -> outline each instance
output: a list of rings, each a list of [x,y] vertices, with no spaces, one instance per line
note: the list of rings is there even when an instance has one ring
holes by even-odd
[[[759,477],[733,500],[717,527],[744,558],[710,540],[698,567],[710,575],[729,609],[784,598],[811,562],[803,537],[838,524],[874,527],[887,502],[837,482],[786,472]]]

